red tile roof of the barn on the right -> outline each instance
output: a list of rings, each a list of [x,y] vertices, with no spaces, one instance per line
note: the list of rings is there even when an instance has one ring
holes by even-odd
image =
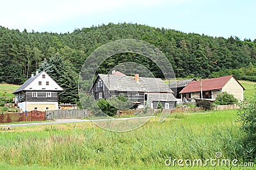
[[[230,80],[230,78],[232,78],[232,77],[233,76],[225,76],[225,77],[201,80],[202,81],[202,89],[203,89],[203,91],[222,89],[224,87],[224,85],[228,82],[228,80]],[[244,87],[243,87],[243,89],[244,89]],[[200,90],[201,90],[200,89],[200,80],[199,81],[191,81],[186,87],[184,87],[184,89],[182,89],[180,91],[180,94],[181,93],[182,94],[189,93],[189,92],[200,92]]]

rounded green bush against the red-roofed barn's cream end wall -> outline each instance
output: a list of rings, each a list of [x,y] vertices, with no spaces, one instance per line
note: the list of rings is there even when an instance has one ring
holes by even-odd
[[[228,94],[227,92],[218,94],[216,100],[214,101],[215,104],[219,105],[235,104],[237,102],[237,99],[232,94]]]

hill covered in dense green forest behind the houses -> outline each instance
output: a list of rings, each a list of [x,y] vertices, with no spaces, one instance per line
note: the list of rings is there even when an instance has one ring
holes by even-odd
[[[23,83],[44,59],[49,60],[56,53],[70,62],[78,74],[93,50],[109,41],[125,38],[141,39],[157,46],[168,57],[179,77],[207,77],[212,72],[256,66],[256,39],[216,38],[125,23],[76,29],[64,34],[20,32],[0,27],[0,83]],[[127,60],[134,61],[134,55],[127,56]],[[106,73],[120,61],[118,57],[108,60],[100,72]],[[138,57],[136,62],[157,75],[158,70],[151,67],[150,61]]]

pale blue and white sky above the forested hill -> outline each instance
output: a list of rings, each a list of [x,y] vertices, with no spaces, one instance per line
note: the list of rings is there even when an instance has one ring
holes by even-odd
[[[73,32],[112,22],[256,39],[255,0],[1,1],[0,25],[29,32]]]

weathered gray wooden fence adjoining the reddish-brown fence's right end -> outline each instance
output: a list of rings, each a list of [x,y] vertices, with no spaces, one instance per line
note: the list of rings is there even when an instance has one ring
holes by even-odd
[[[63,119],[63,118],[85,118],[87,110],[54,110],[46,111],[46,120]]]

